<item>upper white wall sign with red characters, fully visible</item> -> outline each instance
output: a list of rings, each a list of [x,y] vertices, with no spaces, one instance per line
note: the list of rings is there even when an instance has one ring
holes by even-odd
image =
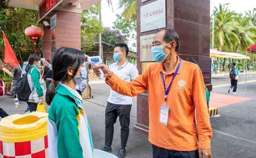
[[[165,0],[140,7],[140,32],[166,27]]]

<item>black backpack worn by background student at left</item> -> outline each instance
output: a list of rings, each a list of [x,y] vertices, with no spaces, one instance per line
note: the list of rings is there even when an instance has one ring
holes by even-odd
[[[27,73],[18,80],[14,89],[14,94],[18,97],[20,101],[28,101],[31,90],[28,83]]]

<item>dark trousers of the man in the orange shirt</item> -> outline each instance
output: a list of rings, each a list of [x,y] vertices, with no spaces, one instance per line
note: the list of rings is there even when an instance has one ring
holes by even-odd
[[[164,149],[152,144],[153,158],[199,158],[198,150],[177,151]]]

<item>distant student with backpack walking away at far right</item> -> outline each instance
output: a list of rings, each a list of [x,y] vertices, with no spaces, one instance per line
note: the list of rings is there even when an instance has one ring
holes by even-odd
[[[232,88],[234,88],[233,89],[233,94],[236,94],[238,74],[239,74],[239,70],[236,67],[236,63],[233,62],[233,66],[230,68],[230,71],[229,71],[229,78],[230,78],[230,81],[231,81],[231,87],[229,88],[228,93],[230,93],[230,90]]]

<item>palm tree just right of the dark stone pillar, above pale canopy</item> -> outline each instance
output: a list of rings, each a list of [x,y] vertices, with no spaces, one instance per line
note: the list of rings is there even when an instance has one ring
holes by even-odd
[[[217,8],[215,7],[215,9]],[[233,15],[234,12],[231,12],[228,7],[224,7],[221,4],[215,14],[214,46],[216,46],[219,51],[232,50],[234,44],[240,44],[237,35],[232,32],[234,29]],[[224,58],[223,64],[225,65],[225,63],[226,59]],[[220,68],[220,58],[218,59],[218,68]],[[225,70],[224,66],[223,70]]]

